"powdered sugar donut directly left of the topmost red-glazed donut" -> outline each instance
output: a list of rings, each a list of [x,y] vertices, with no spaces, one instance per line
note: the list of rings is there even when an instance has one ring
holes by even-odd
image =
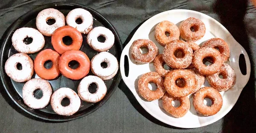
[[[25,44],[23,40],[26,38],[32,38],[33,41],[30,44]],[[23,27],[15,30],[12,35],[12,45],[20,53],[35,53],[44,47],[44,36],[34,28]]]

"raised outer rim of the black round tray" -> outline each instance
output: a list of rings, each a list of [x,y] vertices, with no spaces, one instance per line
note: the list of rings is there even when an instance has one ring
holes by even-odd
[[[93,11],[95,14],[97,14],[97,17],[100,17],[101,19],[103,19],[106,23],[108,23],[110,25],[110,27],[113,29],[113,34],[115,36],[117,36],[117,42],[118,42],[118,45],[119,45],[119,49],[118,49],[118,52],[122,54],[122,50],[123,50],[123,44],[121,43],[121,40],[120,40],[120,37],[119,37],[119,34],[116,32],[116,28],[114,28],[113,24],[108,21],[108,19],[106,19],[105,17],[103,17],[98,11],[94,10],[93,8],[90,8],[90,7],[87,7],[87,6],[84,6],[84,5],[81,5],[81,4],[77,4],[77,3],[68,3],[68,2],[53,2],[53,3],[47,3],[47,4],[42,4],[42,5],[36,5],[35,8],[33,8],[32,10],[26,12],[25,14],[21,15],[20,17],[18,17],[7,29],[6,31],[3,33],[3,36],[1,37],[0,39],[0,44],[2,45],[1,46],[1,49],[0,49],[0,53],[1,53],[1,58],[0,58],[0,63],[3,64],[3,49],[5,47],[4,44],[6,44],[7,42],[7,38],[9,38],[9,36],[12,35],[12,28],[15,26],[15,25],[19,25],[19,21],[23,21],[23,19],[25,19],[26,17],[29,16],[29,14],[32,14],[35,12],[35,10],[43,10],[45,8],[49,8],[49,7],[52,7],[52,6],[79,6],[81,8],[84,8],[86,10],[90,10],[90,11]],[[120,58],[121,56],[117,57],[118,61],[120,61]],[[2,65],[0,66],[2,67]],[[46,121],[52,121],[52,122],[66,122],[66,121],[71,121],[71,120],[74,120],[74,119],[79,119],[81,117],[84,117],[84,116],[87,116],[88,114],[91,114],[93,113],[94,111],[96,111],[97,109],[99,109],[102,105],[104,105],[109,99],[110,97],[113,95],[113,93],[115,92],[116,88],[118,88],[118,85],[119,85],[119,82],[120,80],[122,79],[122,76],[121,76],[121,73],[120,73],[120,67],[119,67],[119,72],[117,72],[117,79],[116,79],[116,82],[114,83],[114,87],[113,89],[111,89],[111,91],[108,91],[109,92],[109,95],[108,97],[106,97],[106,99],[104,101],[102,101],[101,104],[97,105],[95,108],[93,108],[92,110],[88,111],[88,112],[85,112],[84,114],[80,115],[80,116],[76,116],[76,117],[73,117],[73,118],[67,118],[67,119],[49,119],[49,118],[46,118],[46,117],[41,117],[41,116],[38,116],[36,114],[33,114],[29,111],[26,110],[26,108],[23,108],[22,105],[20,105],[19,103],[17,103],[15,101],[15,99],[11,96],[11,94],[9,93],[8,89],[6,88],[6,85],[4,84],[4,79],[3,79],[3,73],[4,73],[4,68],[0,70],[0,78],[1,78],[1,85],[3,86],[3,88],[5,89],[6,93],[8,94],[9,98],[11,98],[12,102],[15,103],[17,105],[17,107],[21,108],[25,113],[35,117],[35,118],[39,118],[39,119],[42,119],[42,120],[46,120]]]

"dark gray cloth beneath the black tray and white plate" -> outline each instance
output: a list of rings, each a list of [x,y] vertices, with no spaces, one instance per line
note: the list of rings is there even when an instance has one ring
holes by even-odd
[[[60,0],[0,1],[0,37],[18,17],[41,4]],[[81,119],[47,123],[30,119],[14,103],[0,95],[0,132],[3,133],[217,133],[255,132],[255,44],[256,9],[247,0],[66,0],[97,10],[116,28],[122,43],[145,19],[171,9],[191,9],[221,22],[247,50],[252,64],[251,78],[233,109],[217,122],[195,129],[181,129],[148,114],[121,80],[119,88],[101,108]],[[130,36],[131,37],[131,36]],[[237,79],[243,80],[243,79]],[[3,89],[3,88],[1,88]]]

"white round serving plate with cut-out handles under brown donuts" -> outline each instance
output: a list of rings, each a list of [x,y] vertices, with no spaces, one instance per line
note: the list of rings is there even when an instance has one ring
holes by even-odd
[[[143,75],[146,72],[155,72],[155,69],[152,63],[136,64],[134,60],[131,58],[131,55],[129,54],[129,49],[131,47],[131,44],[137,39],[150,39],[157,45],[160,53],[162,53],[163,46],[161,46],[154,38],[154,33],[155,33],[154,29],[156,25],[163,20],[168,20],[170,22],[175,23],[178,26],[181,21],[189,17],[196,17],[198,19],[201,19],[206,26],[205,36],[199,41],[197,41],[196,42],[197,44],[201,44],[202,42],[205,42],[206,40],[214,37],[224,39],[227,42],[227,44],[230,47],[230,59],[227,62],[227,64],[230,64],[230,66],[235,70],[237,80],[232,89],[226,92],[220,92],[223,98],[223,106],[217,114],[213,116],[201,116],[197,114],[195,111],[195,108],[192,105],[192,96],[189,95],[188,97],[190,98],[190,102],[191,102],[190,110],[185,116],[181,118],[175,118],[172,115],[168,114],[163,109],[161,100],[154,100],[154,101],[148,102],[139,95],[137,91],[138,79],[140,78],[141,75]],[[239,69],[240,54],[244,54],[245,61],[246,61],[247,75],[242,75]],[[128,63],[129,63],[128,77],[125,76],[125,68],[124,68],[125,55],[128,56]],[[250,78],[250,61],[249,61],[248,55],[244,50],[244,48],[238,42],[236,42],[236,40],[233,38],[230,32],[218,21],[216,21],[212,17],[209,17],[206,14],[203,14],[197,11],[183,10],[183,9],[165,11],[145,21],[140,26],[140,28],[138,28],[138,30],[134,33],[134,36],[131,38],[130,42],[125,46],[124,50],[122,51],[121,60],[120,60],[120,69],[121,69],[122,79],[124,80],[125,84],[134,94],[135,98],[138,100],[140,105],[149,114],[151,114],[156,119],[168,125],[172,125],[175,127],[183,127],[183,128],[203,127],[221,119],[231,110],[231,108],[233,108],[236,101],[238,100],[238,97],[242,89],[247,84]],[[209,84],[207,83],[207,80],[204,83],[204,86],[209,86]]]

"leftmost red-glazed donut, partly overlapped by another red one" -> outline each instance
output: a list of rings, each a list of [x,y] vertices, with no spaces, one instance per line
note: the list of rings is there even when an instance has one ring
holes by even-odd
[[[45,80],[52,80],[58,77],[60,74],[58,61],[59,61],[60,55],[51,50],[51,49],[45,49],[38,53],[38,55],[35,57],[35,63],[34,63],[34,69],[35,73]],[[44,63],[46,61],[52,61],[52,67],[50,69],[46,69],[44,67]]]

